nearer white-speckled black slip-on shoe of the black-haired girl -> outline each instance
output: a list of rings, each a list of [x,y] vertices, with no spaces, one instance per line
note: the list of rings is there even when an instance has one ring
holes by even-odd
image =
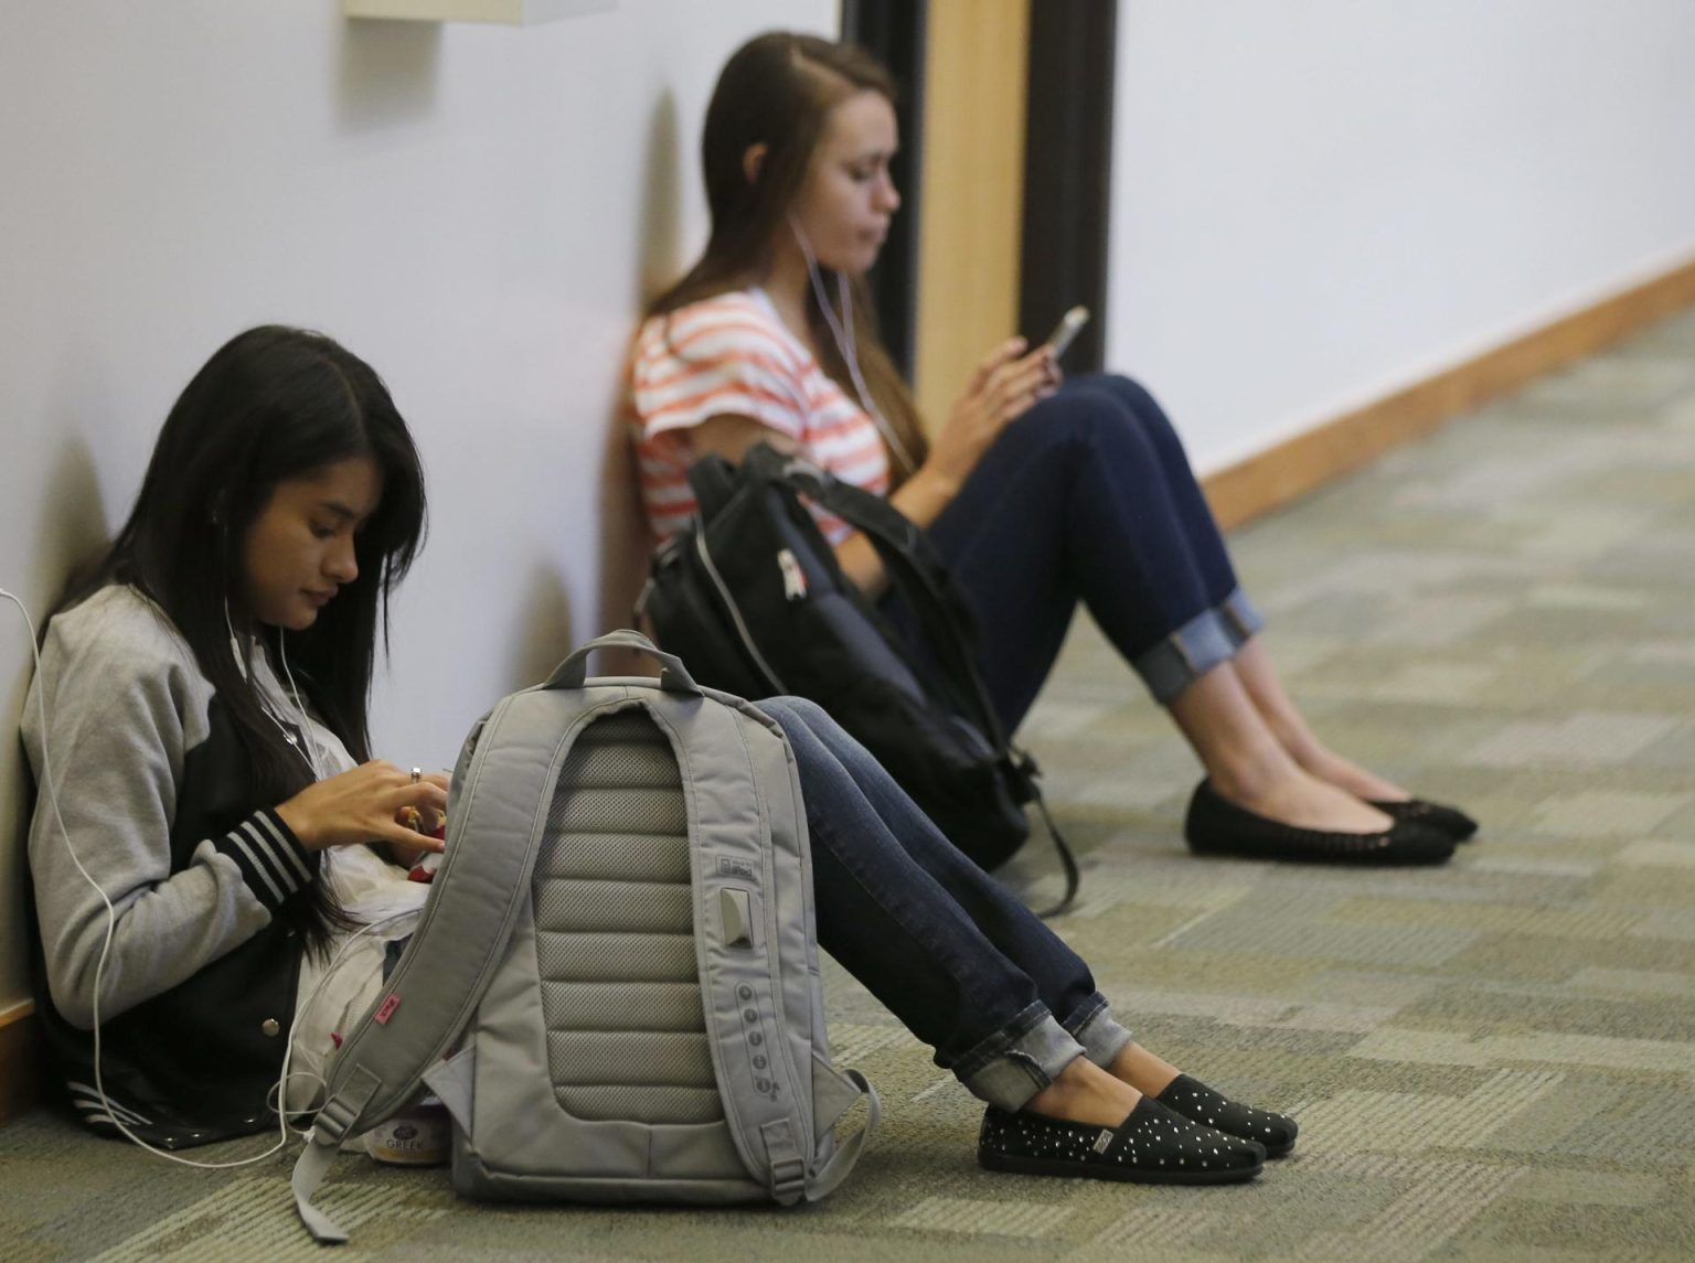
[[[1117,1127],[990,1105],[976,1139],[976,1161],[990,1171],[1131,1183],[1239,1183],[1264,1160],[1263,1144],[1190,1122],[1153,1097]]]

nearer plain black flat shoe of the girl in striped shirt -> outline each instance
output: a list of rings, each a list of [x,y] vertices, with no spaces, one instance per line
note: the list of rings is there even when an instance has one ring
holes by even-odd
[[[1290,860],[1310,865],[1439,865],[1454,854],[1454,839],[1425,824],[1395,821],[1381,832],[1300,829],[1237,807],[1210,780],[1195,787],[1183,821],[1195,854]]]

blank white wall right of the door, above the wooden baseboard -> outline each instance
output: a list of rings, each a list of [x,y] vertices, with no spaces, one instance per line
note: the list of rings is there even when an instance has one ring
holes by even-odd
[[[1124,0],[1107,359],[1215,470],[1695,258],[1688,0]]]

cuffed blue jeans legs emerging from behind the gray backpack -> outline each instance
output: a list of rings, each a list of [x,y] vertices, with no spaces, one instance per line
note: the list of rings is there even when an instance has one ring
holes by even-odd
[[[1088,966],[964,858],[820,707],[759,702],[788,736],[812,836],[819,946],[936,1065],[1007,1110],[1131,1043]]]

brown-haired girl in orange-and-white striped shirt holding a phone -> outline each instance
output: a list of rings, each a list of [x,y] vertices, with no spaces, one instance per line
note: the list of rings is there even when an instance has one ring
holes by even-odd
[[[1015,337],[925,441],[864,288],[900,207],[893,95],[868,54],[810,36],[759,36],[725,64],[702,142],[712,234],[632,351],[654,532],[693,512],[695,458],[795,448],[931,536],[981,615],[1007,731],[1088,607],[1205,768],[1185,824],[1193,849],[1448,860],[1475,822],[1336,754],[1288,698],[1181,441],[1142,387],[1061,383],[1051,353]],[[846,575],[881,593],[868,541],[820,526]],[[885,607],[910,626],[898,602]]]

